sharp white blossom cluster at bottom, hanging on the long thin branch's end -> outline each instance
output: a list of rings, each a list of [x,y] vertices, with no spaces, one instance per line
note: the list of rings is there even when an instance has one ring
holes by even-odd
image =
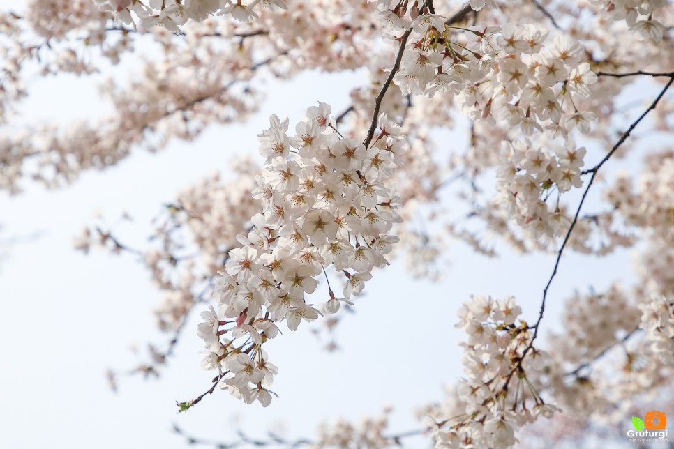
[[[436,448],[466,446],[504,448],[514,445],[515,430],[557,407],[546,404],[529,376],[540,372],[549,356],[532,347],[532,328],[520,318],[515,298],[473,296],[456,325],[468,335],[461,346],[467,378],[456,395],[456,416],[429,416]]]

